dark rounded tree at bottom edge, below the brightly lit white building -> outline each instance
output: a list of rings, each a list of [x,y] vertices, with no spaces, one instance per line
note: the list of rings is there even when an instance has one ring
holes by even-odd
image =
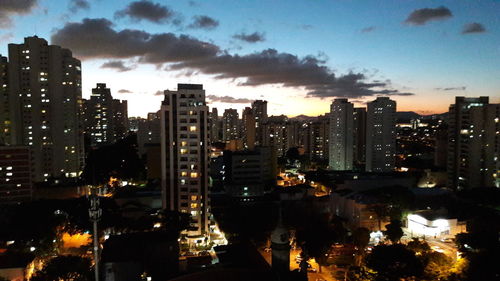
[[[366,265],[377,272],[377,280],[383,281],[420,277],[424,270],[415,253],[402,244],[376,246],[366,257]]]

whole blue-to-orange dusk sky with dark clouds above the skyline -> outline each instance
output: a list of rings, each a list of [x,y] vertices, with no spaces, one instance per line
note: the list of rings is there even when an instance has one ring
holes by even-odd
[[[442,113],[455,96],[500,102],[500,0],[0,0],[0,54],[37,35],[82,61],[129,116],[163,90],[204,85],[210,106],[319,115],[377,96]]]

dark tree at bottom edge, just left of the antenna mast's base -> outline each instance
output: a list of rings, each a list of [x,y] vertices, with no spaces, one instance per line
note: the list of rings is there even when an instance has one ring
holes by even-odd
[[[58,256],[51,259],[32,281],[90,281],[93,279],[90,259],[78,256]]]

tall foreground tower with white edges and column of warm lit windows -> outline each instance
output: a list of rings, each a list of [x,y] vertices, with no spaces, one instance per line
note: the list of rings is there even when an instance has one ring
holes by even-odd
[[[178,84],[160,110],[163,208],[191,214],[189,237],[209,230],[208,107],[203,85]]]

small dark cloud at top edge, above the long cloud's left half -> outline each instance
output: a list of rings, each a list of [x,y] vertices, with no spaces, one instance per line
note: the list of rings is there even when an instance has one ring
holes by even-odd
[[[175,12],[167,6],[153,3],[149,0],[131,2],[125,9],[117,11],[115,17],[130,17],[134,21],[147,20],[154,23],[178,23]]]

